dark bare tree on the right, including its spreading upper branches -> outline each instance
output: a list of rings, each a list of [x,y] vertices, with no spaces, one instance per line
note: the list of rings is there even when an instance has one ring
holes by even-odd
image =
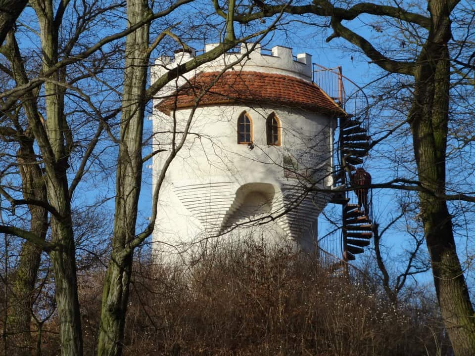
[[[455,354],[460,356],[473,354],[475,319],[464,270],[457,255],[447,202],[474,202],[475,199],[470,193],[464,194],[460,190],[456,190],[455,194],[447,191],[446,168],[447,142],[451,134],[449,122],[453,114],[450,111],[453,97],[451,76],[454,77],[451,65],[459,65],[457,70],[462,72],[462,77],[467,75],[467,70],[473,69],[474,56],[467,48],[472,36],[471,15],[468,15],[467,31],[452,31],[451,27],[454,17],[470,13],[464,6],[459,0],[429,0],[427,6],[399,2],[396,5],[375,2],[340,4],[316,0],[284,9],[295,15],[315,15],[314,22],[319,19],[329,21],[333,34],[328,37],[328,42],[344,39],[386,74],[397,75],[401,81],[410,81],[410,103],[405,114],[412,134],[417,179],[395,178],[384,186],[417,190],[419,193],[420,216],[424,223],[440,310]],[[282,10],[283,5],[264,4],[260,11],[253,13],[252,18],[269,16]],[[246,23],[250,19],[244,14],[237,13],[235,18]],[[376,19],[376,23],[370,21],[369,26],[380,39],[378,44],[371,41],[371,35],[353,29],[352,21],[363,15]],[[390,24],[395,24],[398,30],[383,27]],[[325,26],[325,23],[322,25]],[[411,42],[404,41],[404,37],[402,41],[394,41],[401,38],[398,37],[401,33],[409,36]],[[454,36],[459,39],[452,42]],[[451,50],[454,43],[458,49]]]

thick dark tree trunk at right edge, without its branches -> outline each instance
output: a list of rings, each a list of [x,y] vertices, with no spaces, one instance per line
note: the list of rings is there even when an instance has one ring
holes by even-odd
[[[445,160],[449,120],[450,39],[445,1],[432,1],[433,28],[418,58],[415,100],[410,112],[419,181],[421,217],[430,254],[435,291],[455,355],[475,350],[475,314],[457,256],[452,217],[445,194]],[[439,197],[437,197],[437,195]]]

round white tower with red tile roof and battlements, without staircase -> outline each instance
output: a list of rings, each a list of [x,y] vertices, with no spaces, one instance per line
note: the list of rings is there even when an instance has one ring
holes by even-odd
[[[154,184],[189,131],[160,190],[153,238],[166,244],[158,250],[181,253],[250,233],[308,252],[316,247],[317,217],[332,196],[333,128],[343,111],[312,83],[309,54],[250,46],[188,73],[154,101],[154,149],[166,150],[154,158]],[[192,56],[158,59],[152,81]]]

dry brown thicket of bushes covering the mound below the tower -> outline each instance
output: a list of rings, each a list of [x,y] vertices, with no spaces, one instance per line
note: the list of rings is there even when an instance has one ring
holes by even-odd
[[[101,274],[81,278],[85,355],[96,347]],[[337,274],[315,259],[253,242],[189,268],[142,261],[135,265],[123,354],[438,355],[442,329],[434,305],[396,309],[370,279]],[[46,345],[57,346],[54,334]]]

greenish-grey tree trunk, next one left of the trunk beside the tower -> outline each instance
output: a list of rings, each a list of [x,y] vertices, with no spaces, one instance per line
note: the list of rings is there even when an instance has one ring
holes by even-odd
[[[30,0],[40,22],[43,70],[51,70],[58,61],[60,18],[55,14],[52,0]],[[59,71],[51,75],[61,81]],[[35,137],[45,161],[47,196],[57,216],[51,218],[51,242],[57,247],[50,252],[54,271],[55,298],[59,315],[61,355],[82,356],[83,342],[79,309],[76,251],[68,191],[68,159],[71,149],[70,130],[64,116],[65,89],[55,82],[45,82],[46,114],[44,122],[47,141],[38,122],[32,124]]]

